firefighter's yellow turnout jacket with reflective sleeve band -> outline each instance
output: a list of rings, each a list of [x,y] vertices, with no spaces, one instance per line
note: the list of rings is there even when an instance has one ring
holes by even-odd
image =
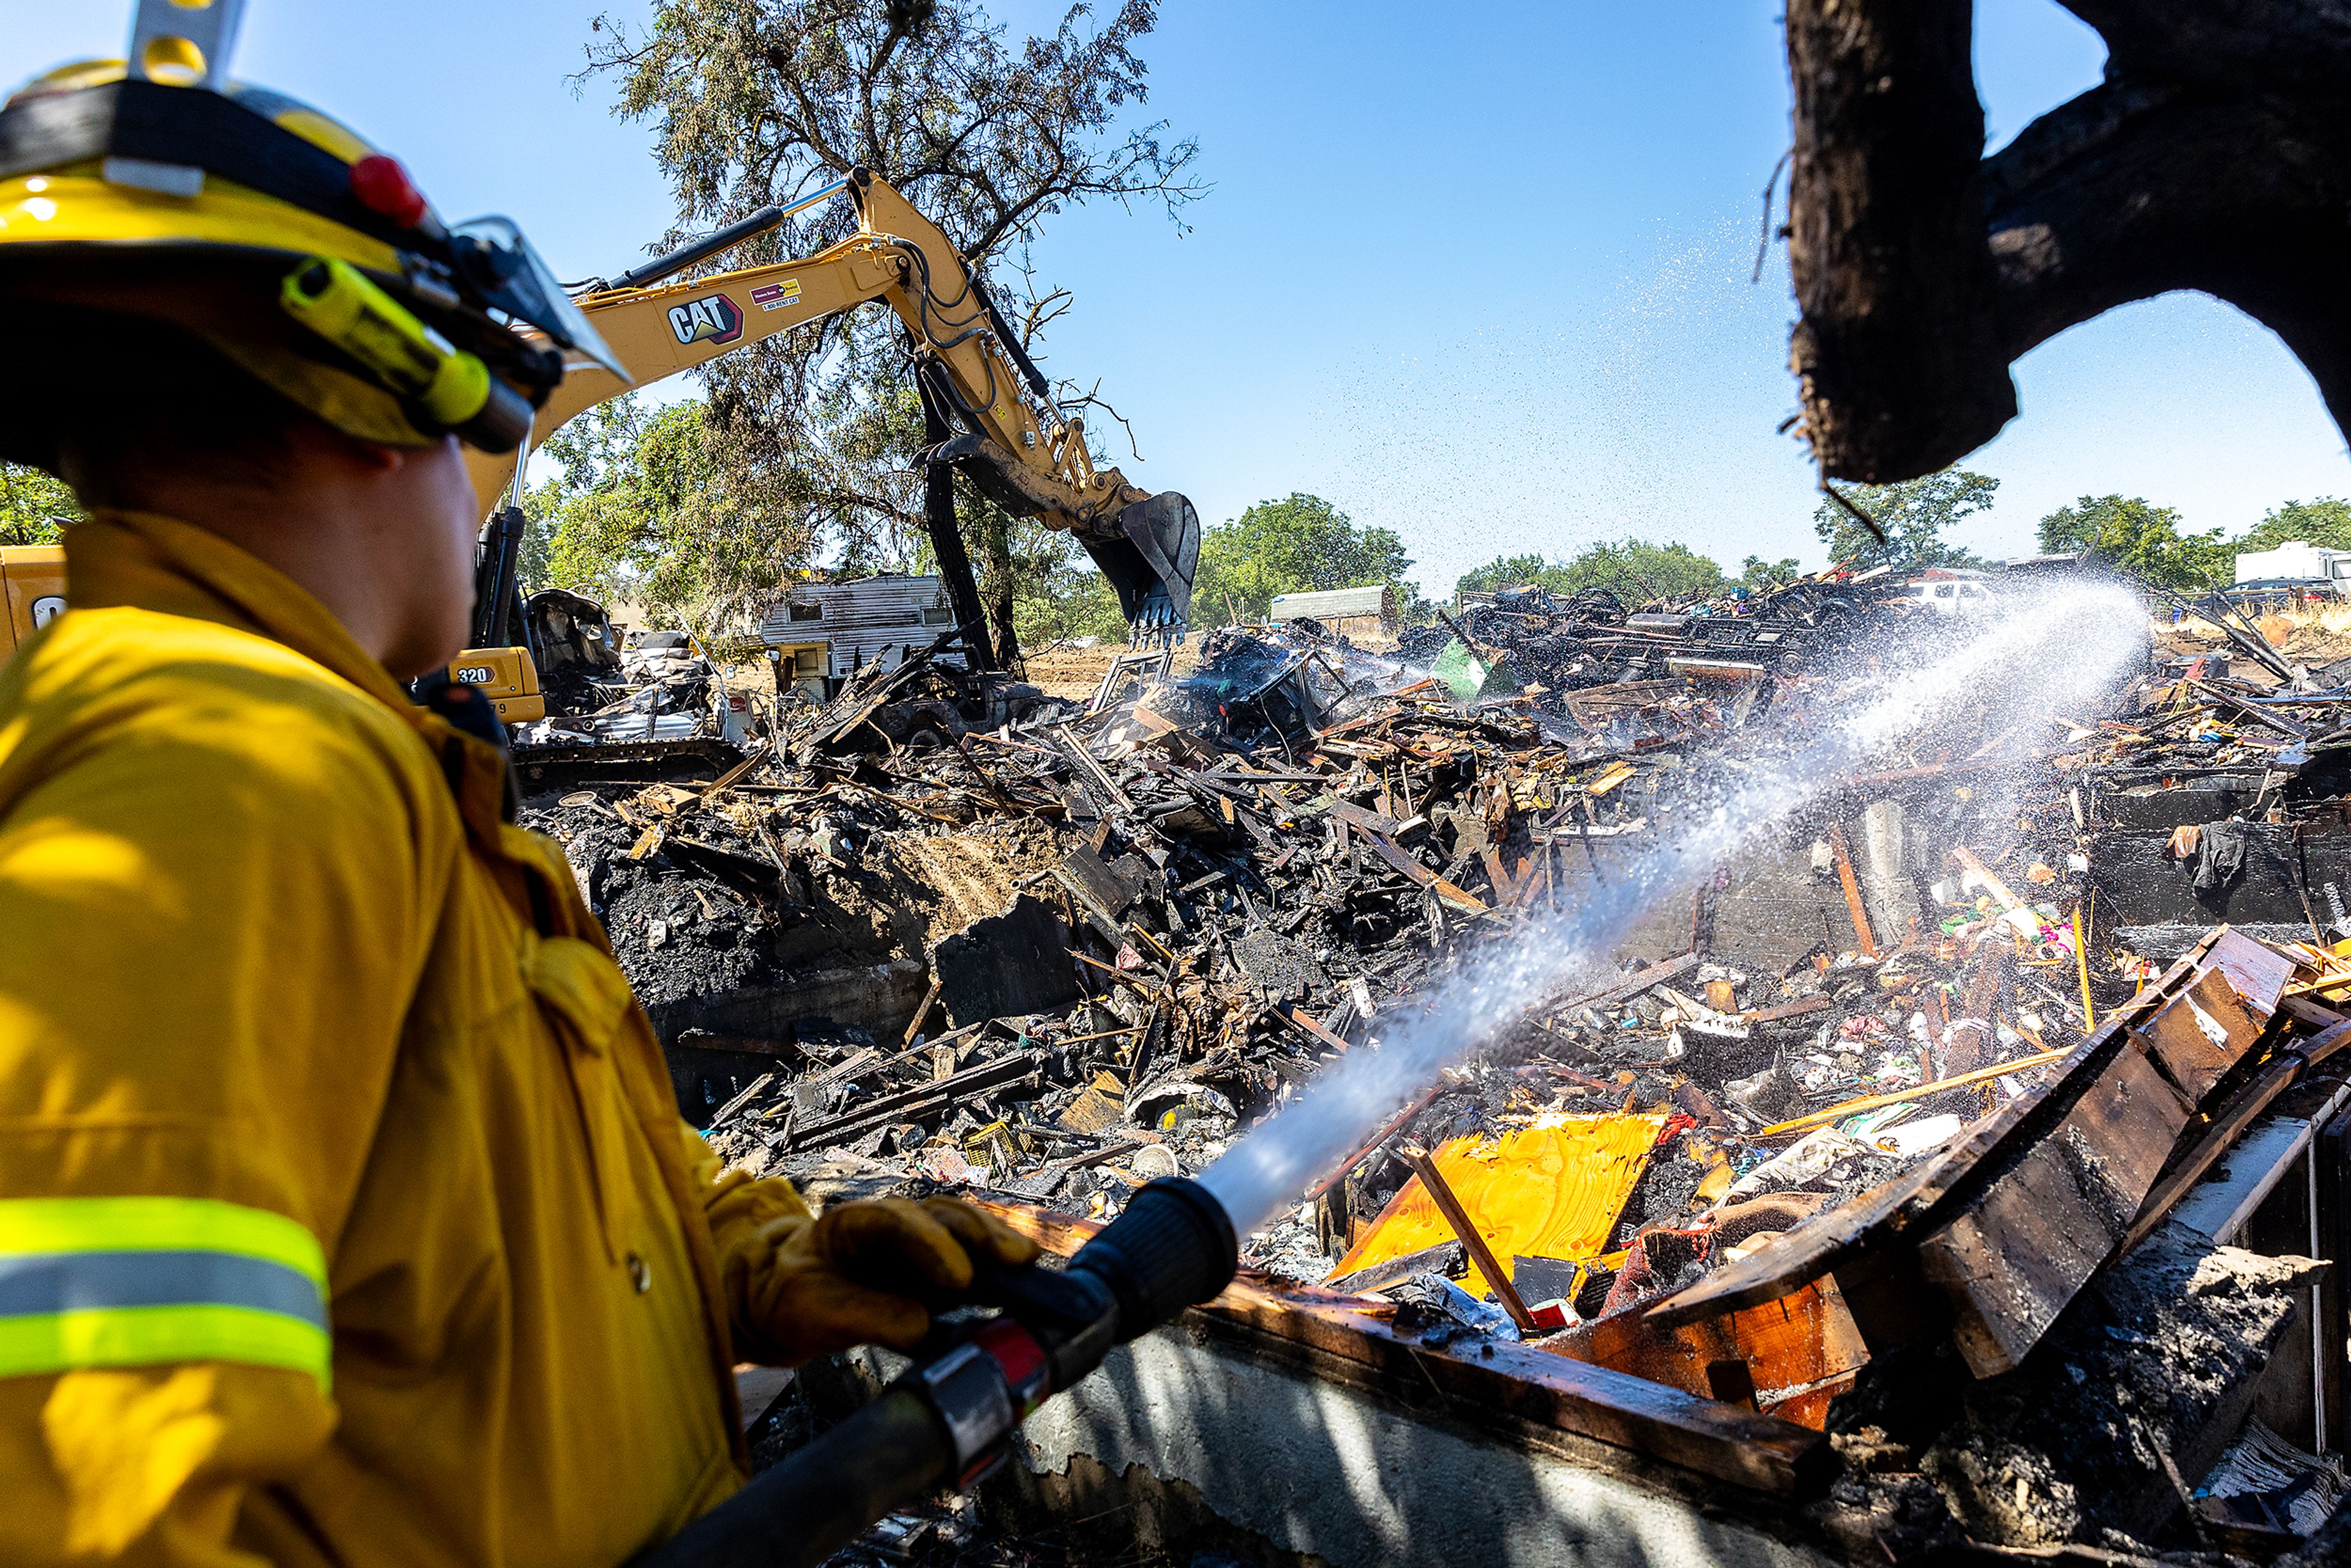
[[[202,529],[0,670],[0,1561],[616,1563],[743,1479],[719,1178],[501,759]]]

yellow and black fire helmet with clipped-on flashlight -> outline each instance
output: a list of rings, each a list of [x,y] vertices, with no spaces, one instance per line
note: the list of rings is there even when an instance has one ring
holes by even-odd
[[[513,451],[567,360],[621,374],[513,221],[444,223],[348,127],[228,80],[237,12],[139,0],[129,63],[0,108],[0,306],[169,322],[393,447]],[[40,461],[9,423],[0,456]]]

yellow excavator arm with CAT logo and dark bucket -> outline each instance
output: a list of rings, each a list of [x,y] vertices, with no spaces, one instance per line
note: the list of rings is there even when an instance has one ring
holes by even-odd
[[[574,362],[538,411],[531,444],[630,388],[882,301],[912,336],[924,390],[952,425],[931,461],[962,468],[997,505],[1074,534],[1119,592],[1138,635],[1178,632],[1190,616],[1199,559],[1192,503],[1173,491],[1150,496],[1117,468],[1096,468],[1084,421],[1063,418],[1051,404],[1044,376],[1027,364],[955,244],[865,169],[832,190],[839,188],[858,205],[858,233],[816,256],[583,296],[581,308],[628,367],[628,378],[588,360]],[[823,195],[830,190],[811,200]],[[489,510],[513,480],[513,461],[482,454],[470,461],[475,491]]]

